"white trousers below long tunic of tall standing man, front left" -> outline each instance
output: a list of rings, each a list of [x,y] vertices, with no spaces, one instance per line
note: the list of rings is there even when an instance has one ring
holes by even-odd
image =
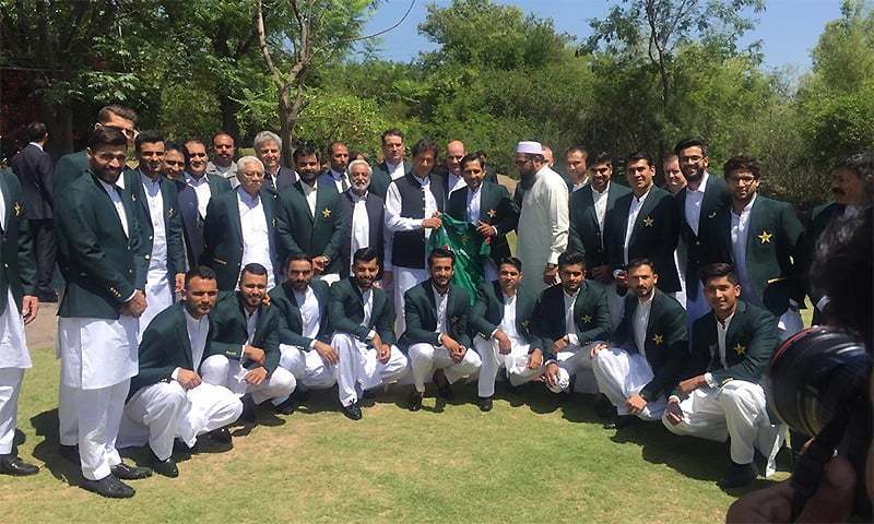
[[[82,475],[90,480],[107,477],[111,466],[121,464],[116,439],[129,388],[130,379],[94,390],[60,384],[60,442],[79,444]]]

